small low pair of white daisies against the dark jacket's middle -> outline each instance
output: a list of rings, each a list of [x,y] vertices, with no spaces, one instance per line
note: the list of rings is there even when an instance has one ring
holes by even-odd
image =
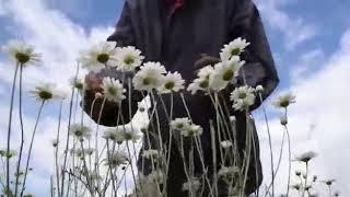
[[[184,137],[196,137],[203,132],[203,129],[199,125],[190,123],[187,117],[175,118],[171,121],[171,127],[174,130],[180,131],[180,135]]]

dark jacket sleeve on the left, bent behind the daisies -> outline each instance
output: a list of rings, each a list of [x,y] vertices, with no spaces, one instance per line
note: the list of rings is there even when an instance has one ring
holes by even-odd
[[[116,42],[117,46],[135,46],[135,35],[132,30],[132,23],[130,18],[130,9],[128,5],[128,1],[125,1],[124,9],[120,15],[120,19],[116,25],[115,32],[107,38],[109,42]],[[98,73],[90,73],[90,74],[97,74],[98,77],[112,77],[115,79],[119,79],[124,82],[125,89],[128,88],[127,80],[121,80],[128,78],[132,78],[132,73],[125,73],[117,71],[115,69],[103,69]],[[129,111],[129,99],[128,92],[131,91],[131,112]],[[94,107],[92,108],[93,101],[95,99],[95,92],[85,91],[84,94],[84,111],[91,118],[104,126],[117,126],[121,125],[122,121],[119,119],[117,123],[118,113],[121,114],[122,120],[125,124],[129,123],[130,116],[132,117],[136,112],[138,111],[138,102],[142,100],[141,92],[135,90],[127,90],[126,99],[121,102],[120,108],[117,103],[106,101],[104,106],[102,107],[103,100],[96,99],[94,102]],[[102,108],[102,111],[101,111]],[[93,109],[93,111],[91,111]],[[120,111],[120,112],[119,112]],[[101,117],[100,117],[101,113]]]

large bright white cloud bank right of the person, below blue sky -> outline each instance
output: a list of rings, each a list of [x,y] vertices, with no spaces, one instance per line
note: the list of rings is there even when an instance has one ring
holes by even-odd
[[[313,173],[319,179],[336,178],[335,187],[342,194],[350,193],[348,170],[350,163],[349,146],[349,112],[350,112],[350,30],[340,42],[340,48],[320,66],[320,70],[295,78],[291,86],[284,91],[296,94],[296,104],[289,111],[289,127],[292,139],[293,155],[304,151],[318,152],[313,162]],[[319,53],[311,53],[319,54]],[[305,56],[306,57],[306,56]],[[307,59],[307,58],[306,58]],[[269,155],[265,127],[260,125],[262,161],[266,177],[269,177]],[[279,149],[282,127],[278,119],[271,119],[271,131],[275,143],[275,159]],[[276,141],[277,140],[277,141]],[[287,147],[284,147],[287,150]],[[287,181],[287,158],[283,158],[279,175],[279,190],[284,188],[279,183]],[[295,167],[294,167],[295,169]],[[294,170],[292,171],[294,172]],[[282,179],[283,182],[282,182]],[[320,187],[325,189],[325,187]]]

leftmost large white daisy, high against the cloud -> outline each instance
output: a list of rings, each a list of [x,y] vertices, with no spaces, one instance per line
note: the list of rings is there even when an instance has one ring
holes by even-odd
[[[40,54],[35,53],[34,47],[20,40],[10,40],[2,47],[15,62],[21,66],[37,65],[40,60]]]

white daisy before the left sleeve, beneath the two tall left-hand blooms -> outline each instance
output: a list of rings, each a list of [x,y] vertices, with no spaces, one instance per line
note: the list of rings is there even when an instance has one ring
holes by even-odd
[[[107,101],[120,103],[126,99],[126,96],[124,95],[126,89],[122,88],[122,84],[119,80],[104,78],[102,89],[104,97]]]

